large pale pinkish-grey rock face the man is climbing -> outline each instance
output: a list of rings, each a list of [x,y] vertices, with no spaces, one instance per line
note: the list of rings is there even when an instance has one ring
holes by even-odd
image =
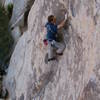
[[[21,4],[22,0],[15,1]],[[54,14],[59,23],[66,11],[72,20],[59,32],[66,43],[64,55],[45,64],[46,19]],[[35,0],[28,29],[16,45],[4,80],[9,100],[100,100],[99,33],[99,0]],[[36,93],[34,86],[40,81],[41,91]]]

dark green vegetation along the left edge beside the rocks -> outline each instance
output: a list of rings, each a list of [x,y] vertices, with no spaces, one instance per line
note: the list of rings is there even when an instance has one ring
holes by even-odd
[[[8,68],[10,56],[11,56],[11,48],[13,45],[13,39],[9,31],[9,19],[12,14],[12,6],[8,6],[8,10],[5,10],[0,5],[0,98],[7,98],[8,91],[6,90],[6,94],[3,92],[2,88],[2,80],[3,75],[6,75],[6,69]]]

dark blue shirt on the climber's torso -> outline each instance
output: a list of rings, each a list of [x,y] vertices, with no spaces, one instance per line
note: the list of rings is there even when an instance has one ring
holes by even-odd
[[[47,28],[47,39],[48,40],[56,40],[56,35],[57,35],[57,25],[53,24],[53,23],[47,23],[45,25],[45,27]]]

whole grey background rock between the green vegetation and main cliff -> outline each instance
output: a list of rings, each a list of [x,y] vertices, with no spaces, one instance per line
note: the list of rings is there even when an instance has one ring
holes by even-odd
[[[6,0],[6,3],[11,2],[11,0]],[[27,29],[27,15],[29,10],[34,3],[34,0],[14,0],[13,1],[13,14],[10,20],[10,25],[12,29],[12,36],[15,40],[15,44],[19,40],[20,36]]]

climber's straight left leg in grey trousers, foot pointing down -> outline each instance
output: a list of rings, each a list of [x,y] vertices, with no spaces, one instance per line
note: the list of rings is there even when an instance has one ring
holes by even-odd
[[[48,42],[48,61],[55,60],[54,47]]]

